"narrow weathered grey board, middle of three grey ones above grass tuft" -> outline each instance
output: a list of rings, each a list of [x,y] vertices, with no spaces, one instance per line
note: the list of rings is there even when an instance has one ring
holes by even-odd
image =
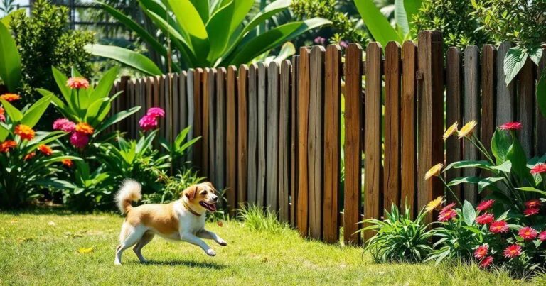
[[[267,64],[258,64],[258,182],[256,191],[256,204],[259,207],[265,206],[265,136],[266,126],[266,102],[267,102]]]

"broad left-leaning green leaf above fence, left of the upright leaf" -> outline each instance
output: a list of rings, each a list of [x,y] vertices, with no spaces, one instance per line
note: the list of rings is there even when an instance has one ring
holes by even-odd
[[[366,28],[368,28],[373,38],[383,47],[386,47],[390,41],[402,43],[404,39],[398,35],[395,28],[390,26],[389,21],[383,16],[378,7],[375,6],[373,0],[355,0],[355,5]]]

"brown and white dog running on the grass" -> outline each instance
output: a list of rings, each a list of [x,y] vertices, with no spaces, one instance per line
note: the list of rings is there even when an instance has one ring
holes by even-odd
[[[120,244],[116,248],[115,265],[122,264],[122,253],[134,246],[140,262],[146,262],[141,250],[157,234],[164,238],[186,241],[203,248],[210,256],[216,255],[205,239],[213,239],[220,246],[227,246],[220,236],[205,229],[205,213],[216,210],[218,196],[210,182],[192,185],[182,192],[181,199],[170,204],[143,204],[132,207],[131,202],[141,199],[141,186],[134,180],[125,180],[116,195],[122,214],[127,214],[119,233]]]

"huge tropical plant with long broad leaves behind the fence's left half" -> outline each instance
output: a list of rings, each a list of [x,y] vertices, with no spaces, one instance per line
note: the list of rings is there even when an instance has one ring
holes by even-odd
[[[101,5],[156,50],[164,62],[172,61],[174,71],[180,71],[188,67],[248,63],[306,31],[331,23],[323,18],[311,18],[285,23],[257,35],[257,28],[276,13],[287,9],[290,2],[274,1],[245,21],[255,4],[254,0],[139,0],[142,11],[161,31],[166,44],[160,43],[156,35],[151,35],[139,23],[112,6]],[[169,46],[173,48],[172,52]],[[165,72],[149,58],[131,50],[107,45],[88,45],[87,48],[95,55],[118,60],[149,75]]]

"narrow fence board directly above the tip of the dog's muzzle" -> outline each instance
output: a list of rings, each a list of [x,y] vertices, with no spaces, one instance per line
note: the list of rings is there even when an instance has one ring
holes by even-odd
[[[215,142],[215,184],[218,189],[225,189],[225,67],[219,67],[216,73],[216,142]]]

